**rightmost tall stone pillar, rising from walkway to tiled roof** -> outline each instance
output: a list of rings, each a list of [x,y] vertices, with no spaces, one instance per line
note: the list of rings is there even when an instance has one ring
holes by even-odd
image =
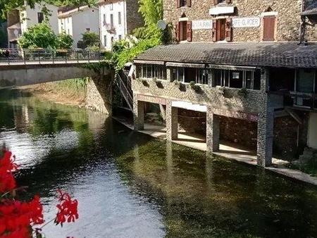
[[[258,120],[257,163],[265,167],[271,165],[273,156],[274,111],[270,107],[267,91],[269,90],[268,69],[261,70],[261,113]]]

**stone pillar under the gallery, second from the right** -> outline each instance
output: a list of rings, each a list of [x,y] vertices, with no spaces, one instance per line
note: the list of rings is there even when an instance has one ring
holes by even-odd
[[[219,116],[213,114],[211,107],[207,108],[206,113],[206,146],[207,151],[214,152],[219,150],[220,120]]]

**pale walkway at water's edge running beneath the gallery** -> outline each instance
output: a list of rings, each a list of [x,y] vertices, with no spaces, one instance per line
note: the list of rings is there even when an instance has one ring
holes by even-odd
[[[133,124],[130,120],[125,120],[124,118],[116,118],[116,117],[113,117],[113,119],[117,120],[119,123],[122,123],[126,127],[130,128],[130,130],[133,130]],[[144,125],[144,127],[145,127],[144,130],[139,132],[143,134],[149,134],[151,137],[154,137],[154,138],[166,139],[165,127],[149,125],[149,124]],[[206,151],[204,140],[199,139],[197,137],[192,137],[189,134],[180,133],[180,138],[173,142],[176,144],[181,144],[183,146],[188,146],[192,149]],[[230,158],[241,163],[247,163],[249,165],[257,165],[256,154],[244,148],[237,149],[235,148],[235,146],[232,146],[231,144],[220,143],[220,152],[213,152],[213,154],[217,156],[222,156],[224,158]],[[287,165],[288,165],[287,161],[281,161],[281,160],[273,158],[273,165],[271,165],[271,167],[266,167],[265,169],[278,173],[280,175],[285,175],[295,180],[307,182],[309,184],[313,184],[317,186],[317,177],[313,177],[299,170],[288,168]]]

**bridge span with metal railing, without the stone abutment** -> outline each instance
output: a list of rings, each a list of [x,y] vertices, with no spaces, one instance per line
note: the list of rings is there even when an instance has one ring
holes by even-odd
[[[96,51],[0,49],[0,87],[92,77],[85,65],[100,61]]]

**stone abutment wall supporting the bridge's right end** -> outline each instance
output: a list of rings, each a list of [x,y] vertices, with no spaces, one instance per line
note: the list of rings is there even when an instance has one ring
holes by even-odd
[[[112,114],[112,82],[113,72],[104,70],[89,80],[87,85],[86,105],[92,110]]]

